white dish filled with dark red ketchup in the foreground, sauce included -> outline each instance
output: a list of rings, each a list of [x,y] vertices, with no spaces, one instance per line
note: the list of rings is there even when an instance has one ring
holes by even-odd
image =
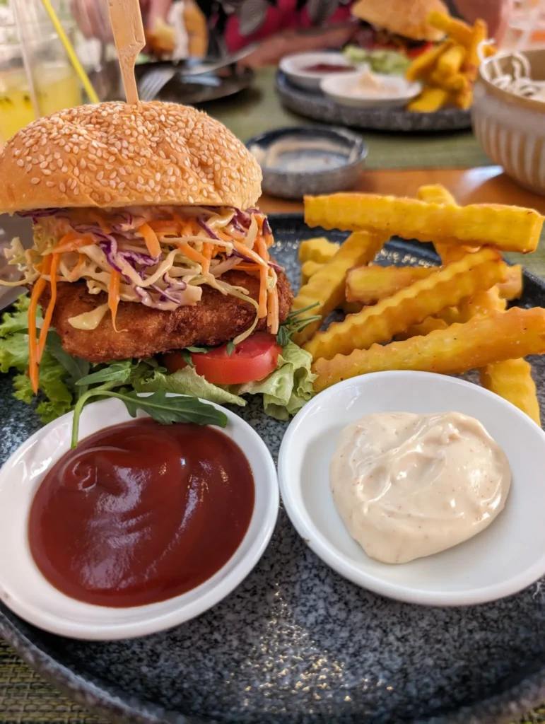
[[[118,400],[30,437],[0,471],[0,600],[76,639],[143,636],[214,606],[269,543],[271,454],[230,411],[224,430],[130,418]]]

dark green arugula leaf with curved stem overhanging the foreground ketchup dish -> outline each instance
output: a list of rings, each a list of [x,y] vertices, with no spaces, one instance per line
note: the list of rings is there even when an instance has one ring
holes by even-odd
[[[136,417],[138,410],[143,410],[148,415],[160,422],[162,425],[169,425],[173,422],[193,422],[197,425],[218,425],[227,426],[227,415],[213,405],[202,403],[196,397],[185,395],[172,395],[167,397],[164,390],[153,392],[152,395],[140,397],[138,392],[114,392],[103,387],[93,387],[92,390],[82,395],[74,410],[74,421],[72,424],[72,447],[77,446],[77,437],[80,429],[80,416],[85,403],[91,397],[116,397],[125,404],[130,416]]]

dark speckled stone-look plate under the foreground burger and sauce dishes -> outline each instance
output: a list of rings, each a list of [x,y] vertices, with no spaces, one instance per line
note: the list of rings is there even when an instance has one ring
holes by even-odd
[[[271,222],[275,256],[297,288],[297,244],[321,231],[300,216]],[[392,241],[380,261],[428,266],[436,257],[426,245]],[[545,303],[533,277],[525,279],[523,303]],[[545,364],[536,361],[534,372],[545,390]],[[0,400],[5,460],[39,424],[12,399],[8,376]],[[242,416],[276,455],[285,424],[265,418],[257,403]],[[0,635],[74,699],[126,722],[498,724],[545,699],[539,583],[477,607],[394,602],[331,571],[282,511],[253,573],[184,626],[85,643],[43,633],[0,606]]]

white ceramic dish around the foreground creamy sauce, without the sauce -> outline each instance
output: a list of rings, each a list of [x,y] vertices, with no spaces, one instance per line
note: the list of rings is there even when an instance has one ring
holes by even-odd
[[[507,503],[489,528],[449,550],[402,565],[373,560],[348,534],[329,490],[341,430],[368,413],[458,411],[486,427],[512,468]],[[348,379],[305,405],[279,455],[287,514],[310,548],[354,583],[426,605],[470,605],[509,596],[545,574],[545,433],[514,405],[476,384],[426,372]]]

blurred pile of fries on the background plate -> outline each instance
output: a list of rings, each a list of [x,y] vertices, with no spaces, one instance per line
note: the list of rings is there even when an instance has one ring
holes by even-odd
[[[419,80],[424,88],[407,104],[407,110],[433,113],[447,105],[468,109],[473,103],[478,48],[487,38],[486,22],[476,20],[472,28],[463,20],[436,10],[428,14],[428,22],[442,30],[447,40],[415,58],[408,67],[405,73],[407,80]],[[491,45],[483,45],[482,48],[485,56],[496,52]]]

